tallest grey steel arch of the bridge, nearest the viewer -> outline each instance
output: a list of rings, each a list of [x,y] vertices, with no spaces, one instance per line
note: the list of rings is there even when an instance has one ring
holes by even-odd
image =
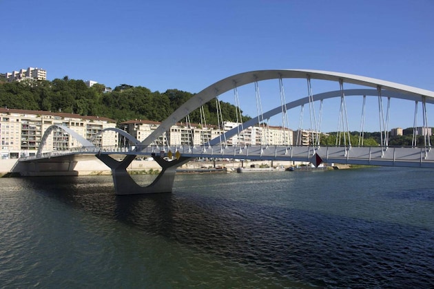
[[[327,72],[322,70],[311,70],[311,69],[273,69],[273,70],[256,70],[252,72],[244,72],[241,74],[235,74],[218,81],[209,87],[203,89],[201,92],[187,100],[183,105],[181,105],[172,115],[170,115],[166,120],[161,122],[161,125],[151,133],[141,145],[147,146],[151,144],[154,139],[161,136],[169,127],[172,127],[176,122],[183,119],[189,112],[194,111],[204,103],[212,100],[228,92],[234,88],[234,85],[240,87],[242,85],[247,85],[249,83],[254,83],[255,81],[267,81],[271,79],[279,78],[307,78],[319,79],[325,81],[343,81],[344,83],[351,83],[355,85],[363,85],[366,87],[375,87],[375,92],[377,93],[378,88],[383,92],[394,92],[408,100],[420,101],[425,98],[426,102],[433,103],[434,92],[426,89],[420,89],[417,87],[411,87],[409,85],[402,85],[400,83],[393,83],[390,81],[382,81],[377,78],[370,78],[366,76],[358,76],[355,74],[345,74],[340,72]],[[326,93],[327,94],[327,93]],[[393,97],[395,97],[393,94]],[[377,94],[375,94],[377,95]],[[385,96],[385,94],[384,94]],[[330,96],[335,97],[335,96]],[[303,99],[303,98],[302,98]],[[316,99],[318,100],[318,98]]]

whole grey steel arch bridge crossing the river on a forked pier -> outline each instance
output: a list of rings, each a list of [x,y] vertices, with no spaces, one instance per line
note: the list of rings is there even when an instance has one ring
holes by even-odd
[[[307,88],[307,96],[287,102],[285,96],[285,81],[303,81],[304,88]],[[263,111],[265,103],[261,100],[260,85],[276,86],[276,101],[273,103],[267,94],[266,105],[273,106],[268,111]],[[318,87],[324,86],[326,91],[313,94],[313,83],[319,83]],[[349,89],[344,89],[344,85],[349,85]],[[339,89],[329,89],[329,87],[339,87]],[[250,90],[246,87],[252,87]],[[205,116],[202,118],[203,105],[211,100],[216,100],[216,110],[218,122],[223,122],[223,115],[219,114],[220,98],[232,92],[234,96],[235,114],[238,120],[242,119],[240,105],[240,92],[248,94],[247,102],[254,103],[256,106],[255,118],[247,120],[232,129],[224,131],[218,127],[217,136],[210,139],[209,129],[207,129]],[[262,89],[261,89],[262,91]],[[292,87],[291,87],[292,91]],[[294,88],[294,91],[296,89]],[[296,94],[296,93],[293,93]],[[297,92],[300,94],[300,92]],[[262,97],[263,98],[263,97]],[[373,107],[369,107],[367,98],[375,100]],[[357,111],[351,111],[347,107],[348,100],[360,100],[360,105],[355,105]],[[411,147],[391,147],[389,145],[389,121],[391,118],[391,101],[402,102],[406,109],[406,115],[413,118],[413,141]],[[324,103],[332,103],[335,108],[333,118],[337,121],[337,133],[333,145],[321,144],[320,133],[322,118],[324,115]],[[72,129],[62,126],[52,126],[45,131],[41,140],[41,146],[36,156],[20,158],[13,171],[21,175],[30,175],[32,172],[47,171],[73,171],[75,164],[79,160],[88,158],[99,158],[107,167],[112,170],[114,187],[116,194],[139,194],[139,193],[162,193],[171,192],[176,168],[189,162],[192,158],[237,158],[249,160],[287,160],[312,162],[318,165],[320,162],[339,163],[339,164],[366,164],[375,166],[393,167],[420,167],[434,168],[434,154],[431,150],[431,127],[428,127],[427,105],[434,103],[434,92],[417,87],[410,87],[389,81],[382,81],[376,78],[357,76],[353,74],[343,74],[338,72],[324,72],[306,69],[278,69],[260,70],[245,72],[229,76],[217,83],[203,89],[194,97],[187,100],[161,125],[142,141],[137,140],[126,131],[121,129],[106,129],[100,131],[114,130],[119,135],[128,140],[125,147],[99,147],[93,140],[86,140],[79,136]],[[317,110],[316,107],[319,109]],[[309,125],[304,125],[304,107],[308,107],[307,118]],[[386,107],[386,108],[385,108]],[[413,107],[413,111],[409,109]],[[422,114],[419,109],[422,108]],[[201,143],[180,142],[173,144],[167,140],[166,132],[176,125],[180,120],[185,119],[185,125],[189,125],[189,114],[196,109],[200,109],[201,126],[204,132],[201,133]],[[326,111],[331,111],[327,109]],[[296,111],[296,112],[293,112]],[[364,125],[366,122],[366,111],[369,111],[369,118],[376,118],[381,133],[381,144],[375,147],[363,145]],[[375,113],[373,111],[376,111]],[[398,117],[404,118],[400,112]],[[278,119],[282,131],[280,143],[270,143],[267,129],[271,120]],[[300,133],[297,138],[291,139],[289,136],[289,119],[298,118],[298,131],[309,133],[309,142],[302,145]],[[358,118],[357,121],[354,119]],[[349,123],[357,123],[360,130],[358,144],[351,143]],[[258,128],[256,140],[247,141],[243,133],[251,127]],[[45,147],[52,132],[61,130],[78,140],[80,147],[65,149],[63,151],[50,151]],[[353,130],[358,130],[353,129]],[[422,131],[423,141],[417,143],[417,129]],[[208,132],[205,132],[208,131]],[[429,131],[429,133],[428,133]],[[206,136],[206,137],[205,137]],[[229,140],[232,139],[231,142]],[[163,141],[162,141],[163,140]],[[165,141],[166,140],[166,141]],[[118,160],[120,158],[121,160]],[[127,173],[127,167],[137,156],[152,156],[162,167],[161,173],[156,180],[149,186],[139,186]]]

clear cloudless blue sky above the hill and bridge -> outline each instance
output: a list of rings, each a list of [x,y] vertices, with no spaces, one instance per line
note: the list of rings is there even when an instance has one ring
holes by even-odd
[[[433,13],[433,0],[0,0],[0,72],[197,93],[251,70],[319,69],[434,91]],[[306,96],[294,86],[287,100]],[[252,103],[240,100],[256,116]],[[393,111],[392,127],[413,125],[408,104]]]

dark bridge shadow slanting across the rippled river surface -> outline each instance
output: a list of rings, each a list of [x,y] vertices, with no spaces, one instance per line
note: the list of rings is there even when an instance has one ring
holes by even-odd
[[[434,232],[424,228],[193,195],[185,189],[116,196],[111,178],[105,177],[23,181],[73,208],[260,268],[272,278],[338,288],[434,286]]]

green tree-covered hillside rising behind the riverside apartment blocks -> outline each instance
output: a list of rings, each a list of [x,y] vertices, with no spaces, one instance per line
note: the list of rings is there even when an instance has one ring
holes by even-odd
[[[105,116],[117,122],[125,120],[165,120],[181,104],[194,96],[189,92],[169,89],[151,92],[146,87],[122,84],[104,93],[105,86],[87,87],[84,81],[65,76],[53,81],[0,82],[0,105],[14,109],[62,111],[82,116]],[[223,119],[236,121],[234,105],[220,101]],[[215,101],[205,103],[205,119],[217,124]],[[249,116],[243,116],[249,120]],[[192,122],[200,123],[200,112],[192,111]]]

